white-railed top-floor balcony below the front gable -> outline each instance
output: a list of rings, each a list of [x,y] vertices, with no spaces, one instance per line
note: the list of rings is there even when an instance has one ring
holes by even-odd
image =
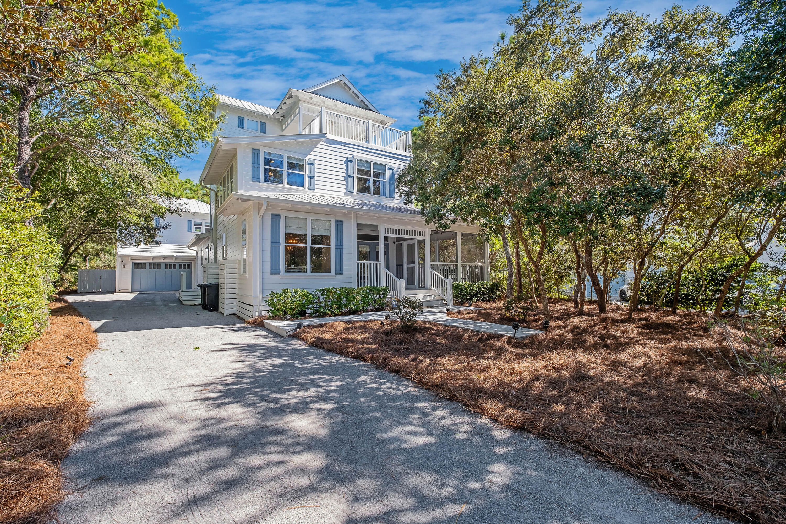
[[[301,106],[298,114],[300,135],[326,133],[339,138],[365,142],[375,146],[395,149],[403,153],[412,151],[412,133],[395,127],[375,124],[354,116],[333,113],[323,108]]]

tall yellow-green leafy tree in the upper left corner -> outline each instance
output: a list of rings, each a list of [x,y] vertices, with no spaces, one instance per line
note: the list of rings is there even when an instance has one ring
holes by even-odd
[[[145,156],[196,153],[209,138],[215,101],[169,37],[177,18],[156,0],[12,0],[0,23],[2,118],[20,185],[34,189],[55,152],[145,175]]]

